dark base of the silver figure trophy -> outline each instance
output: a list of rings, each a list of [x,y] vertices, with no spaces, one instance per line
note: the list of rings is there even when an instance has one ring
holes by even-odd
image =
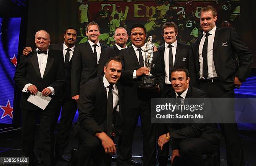
[[[139,88],[159,89],[159,87],[156,85],[156,77],[153,75],[143,75]]]

